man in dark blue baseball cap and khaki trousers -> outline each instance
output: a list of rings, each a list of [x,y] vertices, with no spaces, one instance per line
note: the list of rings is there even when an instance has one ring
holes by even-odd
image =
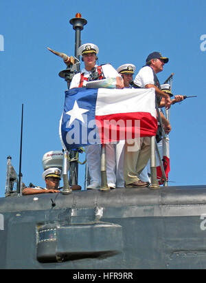
[[[161,90],[157,73],[163,71],[163,66],[168,63],[168,57],[162,56],[160,52],[152,52],[146,59],[146,65],[139,70],[135,77],[134,85],[141,88],[155,88],[157,103],[164,98],[166,108],[170,108],[170,95]],[[170,123],[162,115],[165,132],[170,132]],[[149,182],[141,180],[141,171],[146,167],[150,158],[150,138],[141,137],[139,147],[136,151],[129,151],[130,144],[126,142],[124,151],[124,180],[126,187],[148,187]]]

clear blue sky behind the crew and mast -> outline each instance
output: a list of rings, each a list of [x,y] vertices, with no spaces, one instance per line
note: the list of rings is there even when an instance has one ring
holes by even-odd
[[[159,81],[174,72],[173,93],[198,97],[172,106],[169,184],[205,184],[205,0],[1,0],[0,196],[5,192],[7,156],[19,173],[22,103],[25,185],[44,186],[43,154],[62,149],[58,124],[67,84],[58,73],[65,64],[47,46],[74,55],[75,32],[69,19],[76,12],[88,21],[82,43],[98,45],[100,64],[117,68],[133,63],[138,71],[150,52],[170,58]],[[79,183],[84,184],[82,165]]]

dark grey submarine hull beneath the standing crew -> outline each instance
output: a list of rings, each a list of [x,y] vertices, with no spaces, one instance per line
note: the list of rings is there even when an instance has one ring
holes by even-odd
[[[0,269],[205,269],[206,185],[0,198]]]

